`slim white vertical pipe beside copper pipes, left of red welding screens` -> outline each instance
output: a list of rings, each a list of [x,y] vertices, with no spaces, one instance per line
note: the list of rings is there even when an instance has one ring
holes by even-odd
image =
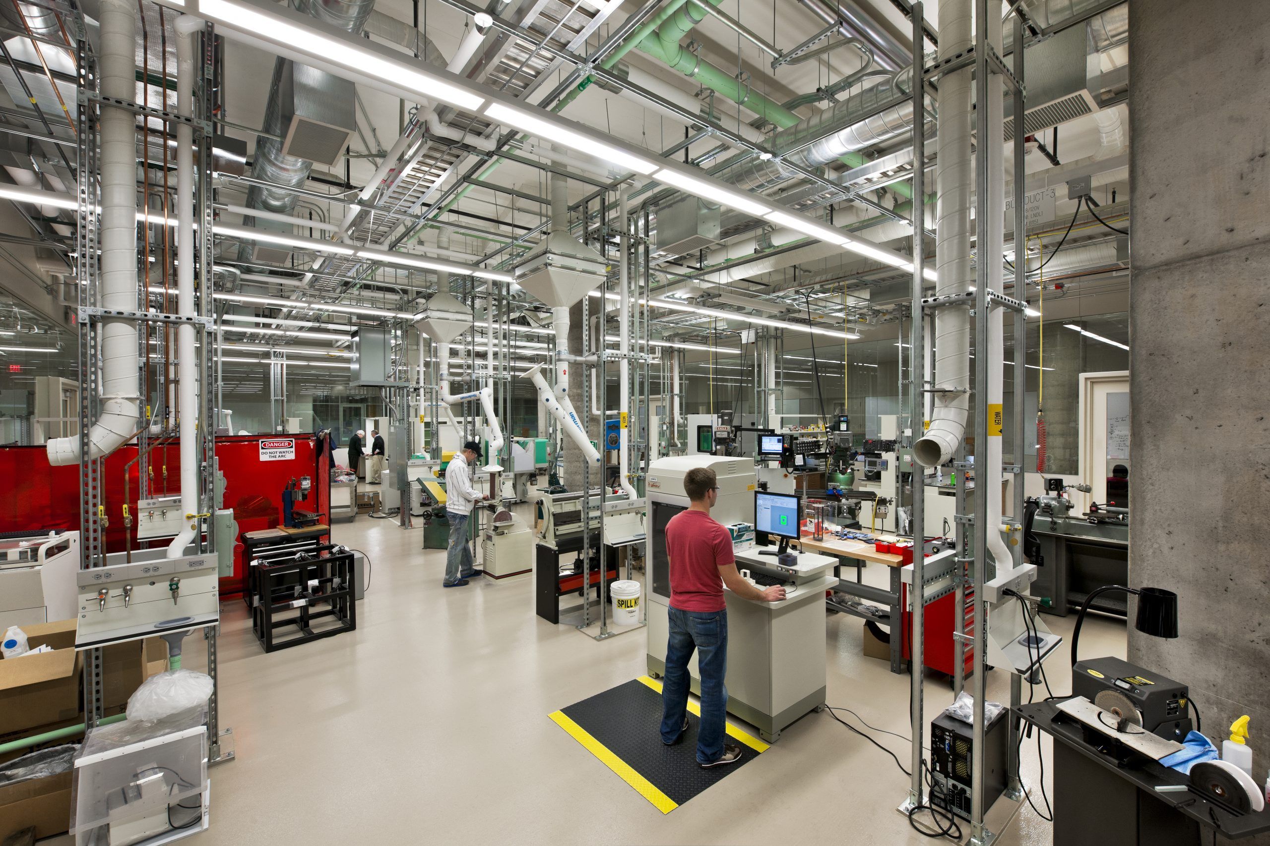
[[[194,113],[194,38],[204,27],[193,15],[177,19],[177,110]],[[177,313],[197,317],[194,311],[194,129],[177,123]],[[185,547],[198,543],[198,359],[194,327],[177,326],[177,368],[180,396],[180,511],[182,530],[168,544],[168,558],[180,558]]]

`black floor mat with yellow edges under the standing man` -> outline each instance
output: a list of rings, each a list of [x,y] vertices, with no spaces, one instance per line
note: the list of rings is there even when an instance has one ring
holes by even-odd
[[[662,743],[662,684],[641,676],[558,710],[551,719],[665,814],[767,750],[767,743],[729,723],[740,761],[704,770],[697,765],[701,708],[691,698],[688,712],[683,741]]]

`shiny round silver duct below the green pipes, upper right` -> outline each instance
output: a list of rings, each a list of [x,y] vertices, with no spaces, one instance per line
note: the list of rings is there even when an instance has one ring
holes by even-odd
[[[912,91],[912,68],[902,70],[878,85],[852,94],[833,107],[781,129],[771,137],[772,152],[801,167],[819,167],[848,152],[865,150],[911,132],[913,128],[913,101],[907,95]],[[904,95],[902,104],[865,120],[860,119],[860,115],[867,114],[879,103],[885,103],[897,94]],[[806,143],[809,138],[818,140],[798,152],[785,155],[786,151]],[[776,160],[752,161],[732,172],[720,174],[723,179],[738,188],[753,192],[763,190],[796,175],[796,171],[784,167]]]

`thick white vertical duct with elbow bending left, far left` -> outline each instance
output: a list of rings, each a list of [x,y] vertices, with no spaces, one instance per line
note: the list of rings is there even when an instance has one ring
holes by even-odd
[[[136,88],[136,9],[126,0],[102,0],[102,95],[132,101]],[[136,117],[102,109],[102,308],[137,309],[137,166]],[[88,433],[89,458],[113,453],[131,439],[141,417],[137,372],[137,326],[126,320],[102,321],[102,416]],[[84,373],[81,379],[98,378]],[[46,445],[48,463],[80,462],[80,435]]]

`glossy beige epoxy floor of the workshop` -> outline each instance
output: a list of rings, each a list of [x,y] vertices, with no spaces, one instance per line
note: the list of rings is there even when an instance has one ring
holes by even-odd
[[[372,562],[356,632],[264,654],[243,602],[222,604],[220,713],[237,758],[211,771],[208,846],[931,842],[895,810],[908,779],[894,761],[828,713],[663,816],[547,719],[643,675],[643,630],[596,642],[551,625],[533,614],[528,577],[443,590],[443,550],[424,552],[422,530],[395,520],[359,516],[333,537]],[[883,585],[885,572],[865,578]],[[1044,619],[1064,637],[1074,623]],[[907,737],[908,676],[861,654],[861,627],[826,618],[828,701]],[[1123,621],[1086,621],[1082,654],[1124,648]],[[1055,693],[1071,685],[1066,654],[1046,663]],[[989,696],[1008,700],[1005,671]],[[947,681],[928,674],[927,719],[949,703]],[[906,741],[870,733],[908,765]],[[1035,793],[1035,739],[1022,760]],[[1050,842],[1026,803],[1012,814],[1008,802],[989,813],[998,842]]]

